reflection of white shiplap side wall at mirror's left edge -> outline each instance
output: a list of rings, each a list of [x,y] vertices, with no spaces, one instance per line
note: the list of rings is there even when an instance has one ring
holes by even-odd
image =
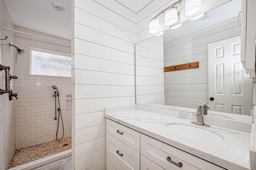
[[[164,104],[163,37],[150,37],[137,43],[135,49],[137,104]]]

